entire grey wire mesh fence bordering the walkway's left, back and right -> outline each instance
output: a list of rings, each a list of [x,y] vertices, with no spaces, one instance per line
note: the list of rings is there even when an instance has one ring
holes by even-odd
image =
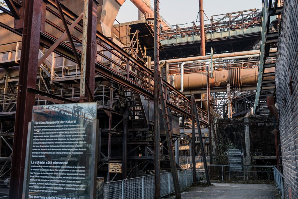
[[[272,182],[275,181],[280,195],[283,196],[283,175],[273,166],[229,166],[208,165],[211,181],[235,182]],[[185,190],[193,184],[191,169],[177,171],[180,189]],[[197,168],[198,181],[206,180],[204,166]],[[151,199],[154,198],[154,175],[131,178],[104,184],[105,199]],[[174,192],[172,172],[160,175],[160,196]]]

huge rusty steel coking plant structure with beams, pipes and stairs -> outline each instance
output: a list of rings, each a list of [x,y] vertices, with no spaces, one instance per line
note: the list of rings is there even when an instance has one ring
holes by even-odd
[[[218,148],[214,115],[269,113],[277,0],[262,11],[211,16],[205,25],[200,0],[200,25],[190,27],[170,26],[158,0],[153,7],[131,0],[138,21],[118,23],[124,1],[0,0],[0,184],[9,198],[22,195],[34,105],[97,101],[97,175],[111,182],[154,174],[156,198],[168,171],[181,198],[179,143],[194,165],[202,157],[209,181],[206,155],[212,164]],[[110,173],[109,163],[121,163],[122,173]]]

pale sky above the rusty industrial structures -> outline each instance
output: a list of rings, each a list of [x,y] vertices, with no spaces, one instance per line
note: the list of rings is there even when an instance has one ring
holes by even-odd
[[[198,0],[159,0],[160,14],[170,24],[185,24],[196,21],[199,11]],[[212,15],[237,12],[262,7],[262,0],[204,0],[204,12]],[[153,7],[153,0],[151,0]],[[116,19],[120,22],[135,21],[138,11],[131,1],[126,0],[119,10]],[[207,20],[205,16],[205,20]]]

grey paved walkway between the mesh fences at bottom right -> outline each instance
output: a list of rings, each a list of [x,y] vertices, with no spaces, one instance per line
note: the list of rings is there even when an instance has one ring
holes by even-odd
[[[181,193],[184,199],[277,199],[274,184],[212,183],[212,186],[196,186]]]

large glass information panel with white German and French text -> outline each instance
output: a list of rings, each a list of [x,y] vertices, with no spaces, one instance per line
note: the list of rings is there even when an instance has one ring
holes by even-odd
[[[23,198],[94,198],[96,115],[96,102],[33,107]]]

